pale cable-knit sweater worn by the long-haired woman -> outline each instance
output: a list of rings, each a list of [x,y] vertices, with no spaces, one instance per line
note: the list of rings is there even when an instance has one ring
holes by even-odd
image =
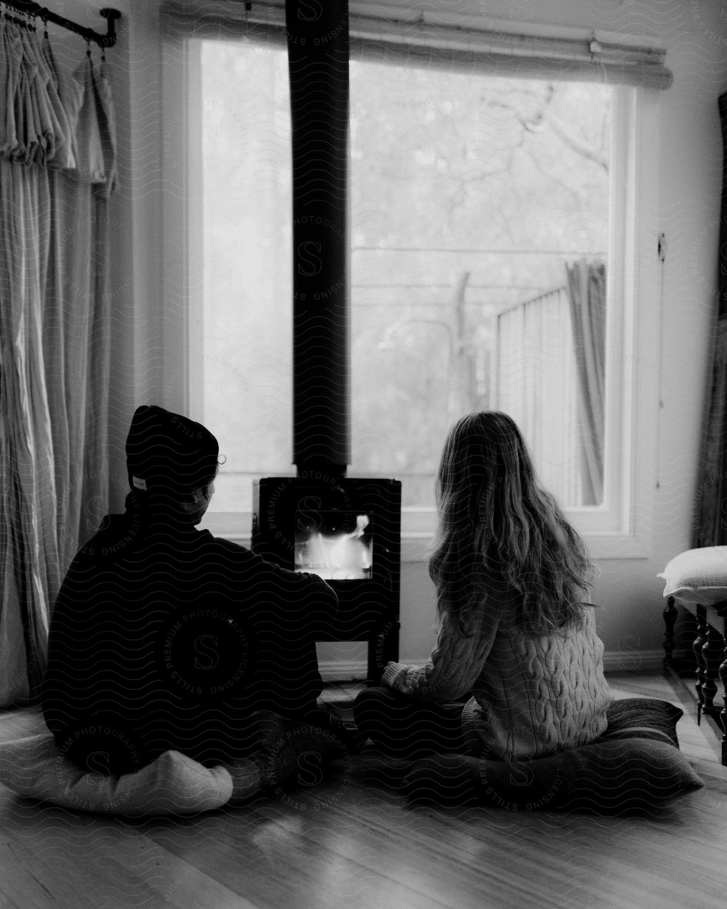
[[[382,682],[430,701],[472,692],[463,734],[473,754],[493,760],[541,757],[589,744],[606,730],[612,694],[593,608],[583,629],[524,634],[509,618],[479,615],[468,637],[445,619],[422,668],[390,663]]]

